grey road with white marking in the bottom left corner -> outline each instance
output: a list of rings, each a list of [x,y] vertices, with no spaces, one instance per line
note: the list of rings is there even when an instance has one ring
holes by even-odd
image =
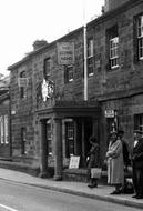
[[[0,211],[141,211],[48,189],[0,180]]]

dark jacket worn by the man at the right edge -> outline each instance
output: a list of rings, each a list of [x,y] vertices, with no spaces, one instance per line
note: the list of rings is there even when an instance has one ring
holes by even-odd
[[[143,138],[132,149],[132,162],[135,164],[135,168],[143,168]]]

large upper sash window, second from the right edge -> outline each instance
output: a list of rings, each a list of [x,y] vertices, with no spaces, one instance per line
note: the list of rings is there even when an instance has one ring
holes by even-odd
[[[119,67],[119,32],[118,26],[114,26],[108,31],[108,56],[109,56],[109,67],[114,69]]]

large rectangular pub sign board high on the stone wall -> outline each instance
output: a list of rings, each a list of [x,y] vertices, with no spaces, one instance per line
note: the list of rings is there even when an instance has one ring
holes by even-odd
[[[74,63],[74,43],[59,42],[58,47],[58,63],[62,66],[70,66]]]

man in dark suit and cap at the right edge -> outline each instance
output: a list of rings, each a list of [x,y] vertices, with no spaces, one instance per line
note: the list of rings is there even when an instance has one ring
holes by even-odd
[[[134,131],[134,143],[132,149],[133,185],[135,194],[133,198],[143,199],[143,132]]]

